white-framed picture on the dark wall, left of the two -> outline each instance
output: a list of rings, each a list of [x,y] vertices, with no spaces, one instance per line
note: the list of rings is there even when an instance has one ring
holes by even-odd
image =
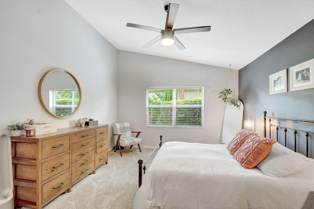
[[[287,69],[269,76],[269,94],[279,94],[288,91]]]

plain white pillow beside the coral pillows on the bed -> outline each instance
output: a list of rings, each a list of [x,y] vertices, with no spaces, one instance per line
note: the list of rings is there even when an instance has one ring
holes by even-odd
[[[312,158],[275,143],[269,155],[257,167],[267,176],[284,177],[307,167],[313,161]]]

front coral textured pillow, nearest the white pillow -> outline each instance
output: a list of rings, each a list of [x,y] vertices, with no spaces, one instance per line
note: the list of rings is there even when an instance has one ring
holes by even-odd
[[[235,152],[234,157],[243,168],[254,168],[268,156],[275,143],[275,140],[253,135]]]

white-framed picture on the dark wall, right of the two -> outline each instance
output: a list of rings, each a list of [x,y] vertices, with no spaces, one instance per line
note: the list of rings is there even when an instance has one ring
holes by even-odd
[[[290,67],[290,91],[314,88],[314,59]]]

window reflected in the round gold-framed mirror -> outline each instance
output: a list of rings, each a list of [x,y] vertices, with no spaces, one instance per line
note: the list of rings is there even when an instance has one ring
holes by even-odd
[[[78,106],[78,89],[53,89],[49,91],[50,111],[58,116],[68,116]]]

